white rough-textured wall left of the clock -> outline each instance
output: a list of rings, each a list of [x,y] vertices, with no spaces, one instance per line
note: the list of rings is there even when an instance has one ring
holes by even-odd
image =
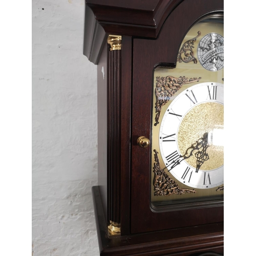
[[[99,255],[96,66],[84,0],[32,1],[32,255]]]

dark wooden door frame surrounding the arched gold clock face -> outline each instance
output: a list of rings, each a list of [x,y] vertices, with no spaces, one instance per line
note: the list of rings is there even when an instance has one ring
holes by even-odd
[[[223,1],[185,0],[170,13],[156,40],[134,38],[132,233],[223,222],[223,205],[153,212],[150,206],[149,175],[151,148],[137,145],[138,137],[151,138],[152,77],[155,65],[162,63],[163,66],[172,64],[175,67],[183,37],[200,18],[208,14],[223,14]]]

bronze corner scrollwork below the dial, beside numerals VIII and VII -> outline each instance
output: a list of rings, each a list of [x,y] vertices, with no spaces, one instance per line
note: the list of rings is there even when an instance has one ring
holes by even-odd
[[[170,196],[170,195],[182,195],[185,193],[197,193],[195,189],[186,189],[180,188],[180,186],[176,183],[175,180],[170,178],[163,169],[161,169],[159,159],[158,159],[158,152],[154,150],[154,158],[155,163],[153,167],[153,172],[155,174],[154,178],[154,190],[155,196]]]

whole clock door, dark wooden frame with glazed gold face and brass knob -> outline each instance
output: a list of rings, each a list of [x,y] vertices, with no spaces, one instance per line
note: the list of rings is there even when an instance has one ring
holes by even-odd
[[[221,9],[184,1],[156,40],[134,38],[132,233],[223,221]]]

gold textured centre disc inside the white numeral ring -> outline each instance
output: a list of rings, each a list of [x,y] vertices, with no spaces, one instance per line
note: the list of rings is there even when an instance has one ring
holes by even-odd
[[[223,146],[224,106],[218,102],[204,102],[190,109],[178,129],[178,147],[185,161],[196,168],[205,158],[200,170],[213,170],[224,164]],[[207,135],[207,146],[202,139]],[[206,157],[207,156],[207,157]]]

